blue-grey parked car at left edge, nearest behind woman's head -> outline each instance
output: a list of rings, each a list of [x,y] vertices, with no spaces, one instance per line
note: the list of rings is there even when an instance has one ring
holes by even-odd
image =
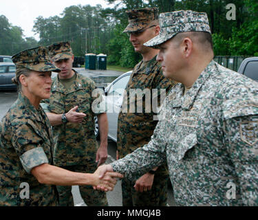
[[[17,89],[17,85],[12,83],[15,71],[14,63],[0,63],[0,89]]]

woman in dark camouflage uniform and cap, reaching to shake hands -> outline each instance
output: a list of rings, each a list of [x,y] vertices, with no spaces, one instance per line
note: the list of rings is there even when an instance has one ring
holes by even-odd
[[[25,50],[12,57],[19,96],[3,118],[0,129],[0,206],[56,206],[56,186],[102,184],[112,190],[118,174],[99,179],[52,166],[54,140],[50,122],[40,106],[50,98],[51,72],[45,47]],[[23,188],[26,186],[25,188]]]

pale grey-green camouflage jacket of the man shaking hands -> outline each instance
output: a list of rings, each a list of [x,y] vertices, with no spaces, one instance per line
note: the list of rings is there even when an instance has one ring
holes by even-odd
[[[166,161],[178,206],[257,206],[258,84],[211,61],[183,93],[173,88],[149,144],[114,171],[136,179]]]

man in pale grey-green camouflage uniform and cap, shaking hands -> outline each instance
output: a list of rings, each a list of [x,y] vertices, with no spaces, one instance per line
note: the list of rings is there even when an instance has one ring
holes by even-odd
[[[179,206],[258,205],[258,84],[213,61],[206,13],[160,14],[164,74],[178,80],[149,144],[105,170],[135,179],[166,160]]]

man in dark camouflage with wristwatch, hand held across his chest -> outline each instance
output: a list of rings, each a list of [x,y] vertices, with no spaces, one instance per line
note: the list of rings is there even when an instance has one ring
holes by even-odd
[[[93,80],[72,69],[74,54],[69,42],[50,45],[50,58],[61,69],[52,83],[49,100],[43,109],[52,124],[54,135],[54,164],[74,172],[94,173],[107,159],[107,115],[105,110],[93,112]],[[94,134],[94,116],[98,116],[100,147]],[[72,188],[58,186],[61,206],[73,206]],[[96,192],[91,186],[80,186],[87,206],[107,206],[105,192]]]

